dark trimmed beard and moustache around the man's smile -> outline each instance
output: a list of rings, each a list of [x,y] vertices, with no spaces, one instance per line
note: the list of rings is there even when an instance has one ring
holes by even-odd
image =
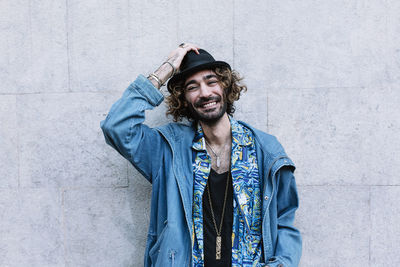
[[[216,101],[217,103],[222,103],[219,107],[211,109],[209,111],[198,111],[196,108],[200,108],[204,103]],[[196,108],[195,108],[196,107]],[[191,103],[188,103],[188,108],[190,115],[193,119],[207,123],[214,124],[216,123],[222,116],[225,114],[227,110],[228,104],[226,101],[222,99],[221,96],[213,96],[207,98],[200,98],[196,103],[194,103],[194,107]]]

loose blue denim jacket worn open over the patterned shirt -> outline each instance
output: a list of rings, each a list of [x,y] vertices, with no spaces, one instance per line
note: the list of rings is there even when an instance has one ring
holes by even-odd
[[[169,123],[150,128],[145,110],[163,95],[143,76],[125,90],[101,122],[107,144],[152,183],[150,224],[144,266],[192,265],[193,125]],[[249,128],[262,177],[262,237],[266,266],[298,266],[301,236],[293,226],[298,207],[294,164],[275,137]]]

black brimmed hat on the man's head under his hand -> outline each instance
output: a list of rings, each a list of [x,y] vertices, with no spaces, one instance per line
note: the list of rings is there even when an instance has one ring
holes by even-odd
[[[231,69],[231,66],[224,61],[216,61],[213,56],[208,53],[206,50],[199,49],[199,54],[196,54],[193,50],[190,50],[186,56],[183,58],[180,71],[172,76],[172,78],[168,81],[168,91],[171,92],[170,84],[176,83],[178,80],[185,79],[189,75],[205,70],[205,69],[213,69],[215,67],[222,67]]]

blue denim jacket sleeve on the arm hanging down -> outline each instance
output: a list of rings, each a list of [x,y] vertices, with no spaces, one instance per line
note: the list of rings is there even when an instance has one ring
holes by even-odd
[[[297,267],[299,265],[302,240],[299,230],[293,226],[295,212],[299,206],[293,170],[284,166],[276,173],[278,237],[275,255],[267,261],[270,267]]]

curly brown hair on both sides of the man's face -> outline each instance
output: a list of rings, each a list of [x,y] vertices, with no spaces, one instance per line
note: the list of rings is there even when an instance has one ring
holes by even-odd
[[[242,84],[243,77],[235,70],[228,68],[212,69],[217,75],[219,84],[224,88],[224,99],[227,102],[226,112],[228,115],[233,115],[235,112],[234,102],[239,100],[240,94],[247,90],[247,86]],[[171,94],[166,98],[168,105],[167,115],[171,115],[174,121],[182,121],[183,118],[194,120],[187,101],[185,99],[185,79],[181,79],[173,84],[168,84],[168,89]]]

